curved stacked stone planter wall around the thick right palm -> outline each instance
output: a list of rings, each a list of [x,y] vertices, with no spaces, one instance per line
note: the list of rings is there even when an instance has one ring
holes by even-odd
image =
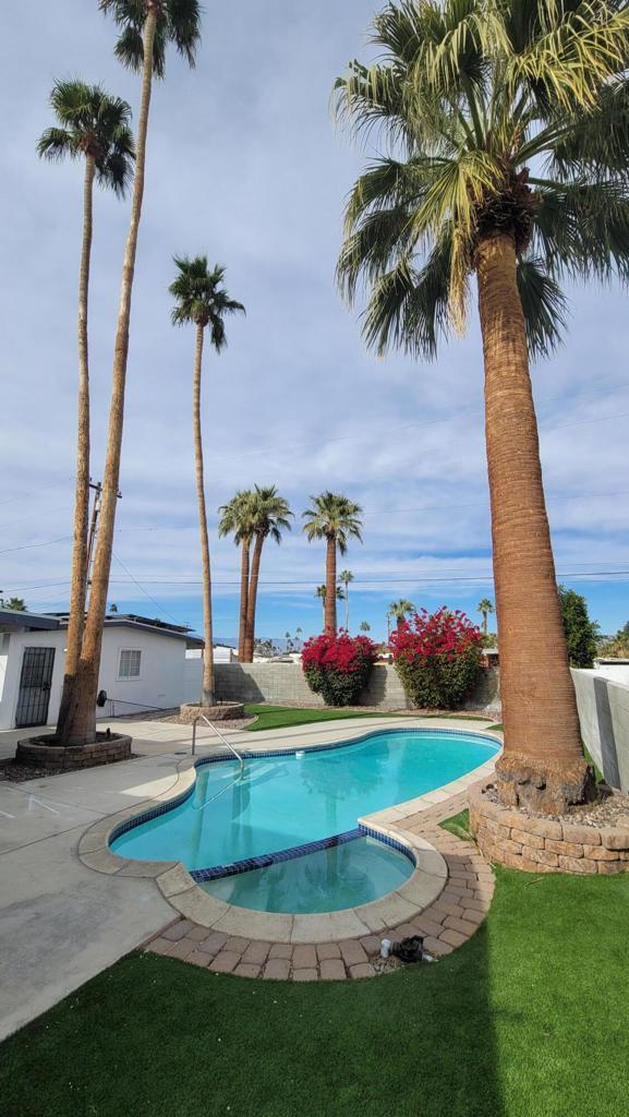
[[[476,792],[470,830],[488,861],[524,872],[603,873],[629,870],[627,827],[591,827],[525,814]]]

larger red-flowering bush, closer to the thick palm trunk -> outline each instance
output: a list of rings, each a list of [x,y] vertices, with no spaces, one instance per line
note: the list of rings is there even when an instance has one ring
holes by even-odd
[[[483,633],[456,610],[421,609],[391,634],[393,662],[407,697],[421,709],[454,709],[480,669]]]

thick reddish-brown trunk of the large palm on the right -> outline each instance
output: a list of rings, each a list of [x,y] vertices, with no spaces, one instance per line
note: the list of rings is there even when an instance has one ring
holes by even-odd
[[[478,248],[505,747],[501,800],[561,812],[588,791],[556,589],[513,239]]]

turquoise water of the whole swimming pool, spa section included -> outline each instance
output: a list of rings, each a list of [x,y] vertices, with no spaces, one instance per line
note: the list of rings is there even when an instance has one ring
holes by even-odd
[[[360,817],[449,783],[489,760],[497,750],[497,744],[479,734],[402,729],[372,733],[321,752],[247,760],[242,775],[236,761],[203,764],[198,768],[192,794],[183,803],[127,830],[112,842],[112,849],[139,860],[179,860],[190,870],[276,853],[354,830]],[[377,867],[373,844],[360,847],[356,839],[349,843],[349,849],[339,847],[336,859],[330,856],[327,860],[324,857],[308,863],[301,857],[284,862],[284,868],[287,863],[292,867],[284,875],[279,870],[276,873],[278,880],[280,877],[284,880],[276,891],[285,888],[294,897],[296,889],[286,884],[288,877],[298,879],[299,890],[307,870],[312,869],[311,876],[318,882],[311,888],[311,900],[301,896],[299,903],[318,903],[317,896],[325,887],[321,885],[321,866],[326,863],[336,866],[334,872],[330,868],[328,900],[336,895],[339,880],[350,878],[350,862],[354,865],[356,880],[361,873],[369,877],[370,872],[380,880],[385,876],[383,865],[393,851],[385,850],[387,857],[380,858]],[[375,852],[380,853],[380,849]],[[399,856],[390,858],[391,862],[398,863]],[[365,858],[371,868],[365,869]],[[408,862],[407,858],[402,860]],[[269,868],[255,872],[259,876],[247,873],[247,903],[242,898],[245,882],[231,884],[232,894],[238,897],[234,903],[263,905],[263,910],[295,910],[268,907],[273,900],[270,895],[260,898],[258,881],[265,875],[270,892],[275,878],[268,876]],[[216,881],[211,881],[208,890],[213,892],[215,886]],[[221,887],[227,889],[228,885]],[[379,895],[394,887],[387,885]],[[257,897],[256,904],[250,903],[251,897]],[[332,909],[328,901],[326,910]]]

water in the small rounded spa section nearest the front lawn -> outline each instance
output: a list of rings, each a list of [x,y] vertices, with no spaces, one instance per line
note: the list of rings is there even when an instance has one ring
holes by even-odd
[[[339,911],[399,888],[413,868],[404,853],[362,837],[199,887],[227,904],[256,911]]]

